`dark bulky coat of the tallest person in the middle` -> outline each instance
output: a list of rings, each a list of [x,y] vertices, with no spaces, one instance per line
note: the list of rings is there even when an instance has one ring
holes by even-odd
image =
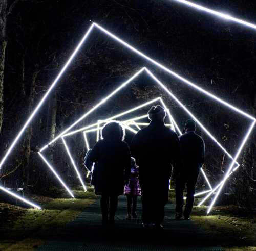
[[[172,165],[175,168],[180,165],[179,138],[163,121],[152,121],[141,129],[132,140],[131,151],[141,181],[166,181],[170,179]]]

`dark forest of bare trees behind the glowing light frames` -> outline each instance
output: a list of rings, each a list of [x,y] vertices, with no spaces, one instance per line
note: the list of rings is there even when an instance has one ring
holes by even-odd
[[[197,3],[256,22],[256,3],[252,1]],[[256,116],[256,31],[253,29],[168,0],[1,0],[0,18],[1,157],[89,29],[90,20],[188,80]],[[236,153],[249,127],[248,119],[209,100],[94,30],[9,156],[0,171],[0,184],[19,187],[24,183],[27,194],[47,194],[51,187],[59,187],[39,158],[37,147],[53,139],[143,66],[150,68],[186,104],[230,154]],[[183,128],[187,115],[146,75],[133,81],[130,88],[77,128],[158,96],[163,96]],[[205,171],[212,184],[217,184],[230,160],[200,128],[198,133],[206,141]],[[90,142],[94,141],[93,137],[90,136]],[[249,210],[255,208],[255,139],[254,130],[239,158],[240,169],[224,189],[232,195],[232,203]],[[69,145],[85,175],[82,158],[86,148],[82,134],[72,136]],[[70,186],[79,184],[61,141],[49,147],[46,155]],[[199,186],[204,185],[201,180]],[[227,201],[226,197],[223,193],[222,202]]]

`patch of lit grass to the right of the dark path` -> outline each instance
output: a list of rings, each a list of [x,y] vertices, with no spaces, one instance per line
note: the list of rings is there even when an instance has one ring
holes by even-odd
[[[256,251],[256,215],[240,212],[238,207],[216,206],[206,216],[207,207],[194,207],[191,218],[219,246],[227,251]]]

